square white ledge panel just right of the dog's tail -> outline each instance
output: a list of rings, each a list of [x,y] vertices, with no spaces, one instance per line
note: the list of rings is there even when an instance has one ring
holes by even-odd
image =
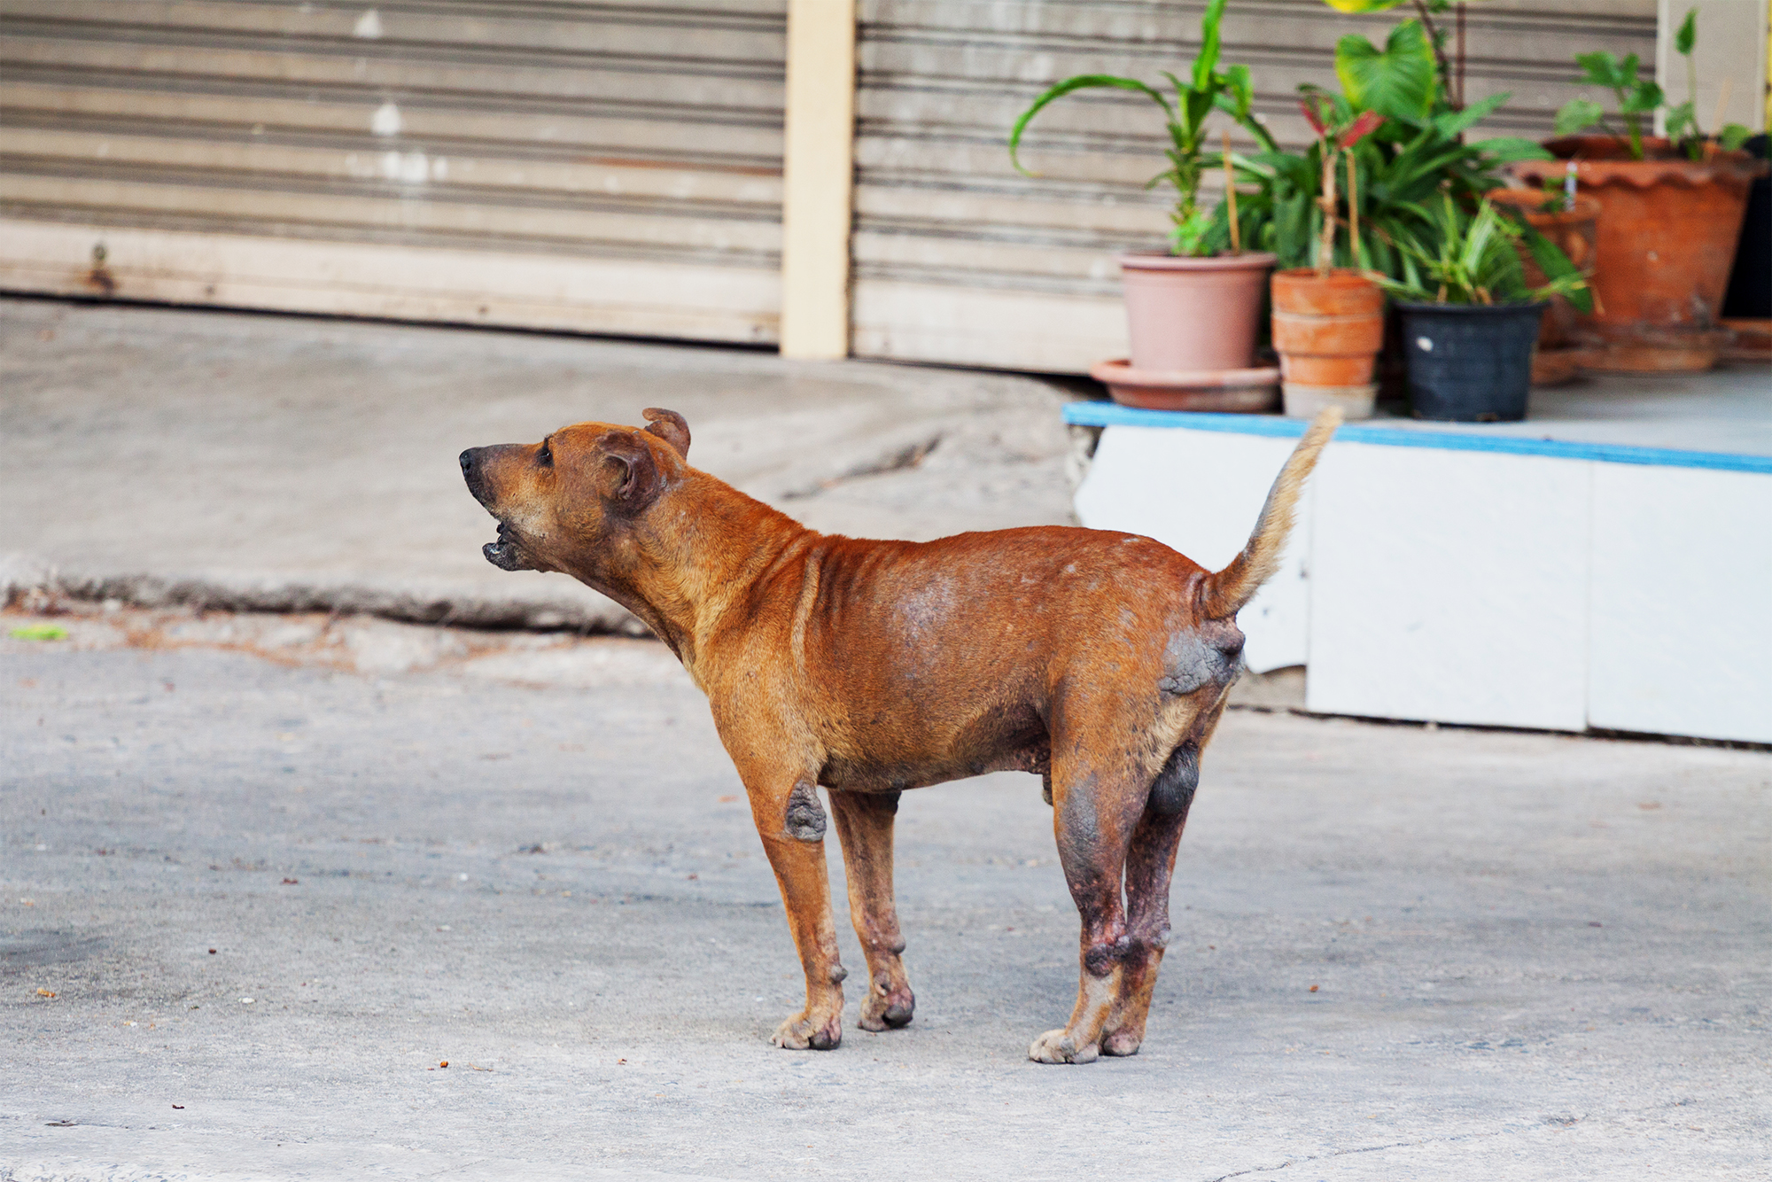
[[[1315,475],[1308,707],[1584,728],[1591,468],[1327,450]]]

